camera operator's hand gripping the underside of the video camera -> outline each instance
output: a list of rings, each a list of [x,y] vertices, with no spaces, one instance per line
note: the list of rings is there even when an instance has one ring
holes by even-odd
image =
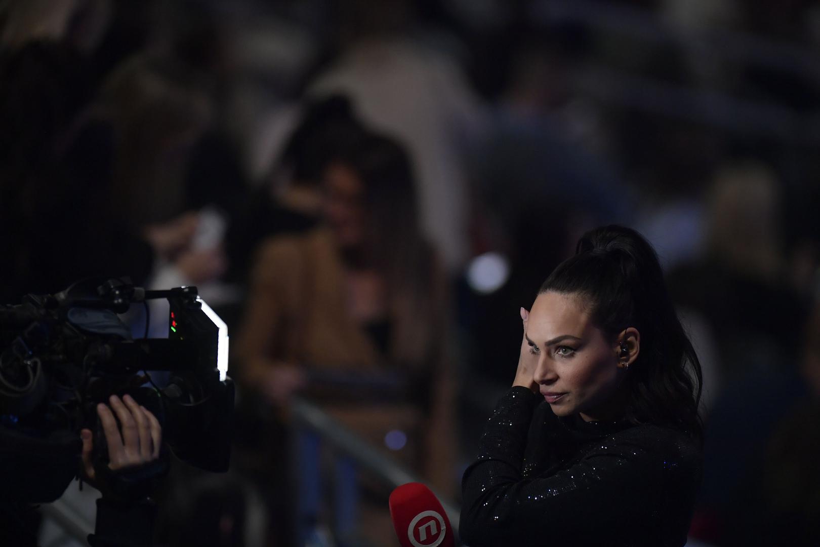
[[[125,395],[122,400],[112,395],[108,400],[111,408],[103,403],[97,405],[97,414],[103,424],[108,446],[108,467],[116,471],[153,462],[159,458],[162,427],[157,418],[137,404],[130,395]],[[114,419],[112,408],[120,421],[120,427]],[[93,435],[90,430],[84,429],[80,431],[80,436],[83,440],[83,470],[86,478],[93,483]]]

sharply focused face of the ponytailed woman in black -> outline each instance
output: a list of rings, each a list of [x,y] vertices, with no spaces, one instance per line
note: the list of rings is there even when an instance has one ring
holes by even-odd
[[[538,295],[526,332],[537,358],[534,380],[557,416],[616,419],[613,394],[621,381],[620,345],[594,326],[585,300],[548,291]]]

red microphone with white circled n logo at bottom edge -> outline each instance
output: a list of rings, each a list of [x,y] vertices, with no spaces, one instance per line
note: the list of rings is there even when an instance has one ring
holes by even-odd
[[[390,518],[402,547],[454,547],[453,528],[441,502],[420,482],[390,494]]]

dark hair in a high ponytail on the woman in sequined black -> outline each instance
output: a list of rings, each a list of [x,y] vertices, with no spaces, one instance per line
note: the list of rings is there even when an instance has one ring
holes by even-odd
[[[587,232],[576,254],[541,285],[539,292],[547,291],[581,295],[608,336],[630,326],[640,332],[640,354],[622,384],[629,394],[627,419],[702,437],[700,362],[672,306],[658,255],[643,236],[622,226]]]

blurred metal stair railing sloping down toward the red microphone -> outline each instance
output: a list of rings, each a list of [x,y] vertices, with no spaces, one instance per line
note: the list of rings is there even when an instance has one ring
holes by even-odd
[[[298,473],[296,526],[299,545],[305,545],[319,521],[322,500],[321,450],[325,447],[333,455],[333,531],[339,538],[351,538],[357,534],[359,471],[367,472],[391,489],[408,482],[424,482],[348,431],[317,405],[305,399],[295,399],[292,412],[296,427],[294,458]],[[435,495],[447,513],[453,531],[458,531],[459,508],[438,493]],[[385,503],[385,512],[387,510]]]

